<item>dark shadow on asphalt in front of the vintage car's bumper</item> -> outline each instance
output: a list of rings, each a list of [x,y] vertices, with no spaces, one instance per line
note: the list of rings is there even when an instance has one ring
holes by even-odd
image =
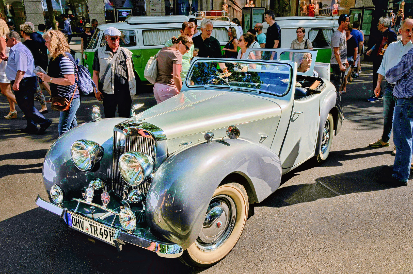
[[[41,208],[4,220],[0,227],[0,273],[184,274],[203,270],[131,244],[118,252],[109,244],[65,228],[57,215]]]

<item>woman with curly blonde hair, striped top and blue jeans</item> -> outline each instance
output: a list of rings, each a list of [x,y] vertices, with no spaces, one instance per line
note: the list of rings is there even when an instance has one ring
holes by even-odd
[[[75,83],[77,66],[71,54],[66,36],[60,31],[47,31],[43,34],[49,50],[48,74],[38,73],[46,83],[50,83],[52,96],[64,97],[70,102],[67,111],[60,111],[59,135],[77,126],[76,111],[80,106],[80,94]]]

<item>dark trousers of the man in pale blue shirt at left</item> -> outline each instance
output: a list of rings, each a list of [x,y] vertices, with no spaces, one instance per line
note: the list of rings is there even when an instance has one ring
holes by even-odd
[[[13,86],[14,80],[11,81]],[[16,102],[19,108],[24,112],[27,120],[27,128],[37,128],[37,124],[47,122],[45,116],[34,107],[33,95],[36,90],[36,76],[23,78],[19,83],[19,90],[13,90],[16,95]]]

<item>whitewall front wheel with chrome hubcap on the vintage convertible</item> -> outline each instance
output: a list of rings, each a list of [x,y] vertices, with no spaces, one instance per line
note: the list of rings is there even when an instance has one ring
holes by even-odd
[[[238,183],[219,186],[209,203],[201,232],[179,260],[190,267],[210,267],[234,248],[248,217],[248,196]]]

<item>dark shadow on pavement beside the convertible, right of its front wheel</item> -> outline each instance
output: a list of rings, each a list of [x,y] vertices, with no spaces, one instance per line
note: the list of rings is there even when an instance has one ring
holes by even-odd
[[[262,203],[256,204],[256,206],[291,206],[297,203],[306,203],[345,194],[389,189],[390,187],[376,182],[377,177],[380,176],[381,169],[382,166],[378,166],[353,172],[339,173],[319,177],[315,180],[316,182],[312,184],[281,187]],[[295,172],[297,173],[297,171]],[[298,174],[289,175],[290,177],[287,177],[287,180],[295,175]],[[412,174],[409,179],[413,179]]]

